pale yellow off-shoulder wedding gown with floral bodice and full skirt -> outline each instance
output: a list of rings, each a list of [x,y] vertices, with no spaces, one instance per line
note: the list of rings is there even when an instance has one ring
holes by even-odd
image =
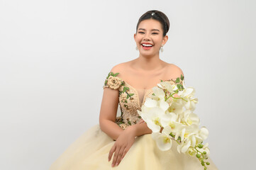
[[[112,75],[112,76],[111,76]],[[175,80],[165,80],[172,81]],[[184,83],[184,80],[182,81]],[[135,89],[123,81],[117,74],[110,72],[105,80],[103,88],[110,88],[119,91],[119,106],[121,116],[116,118],[116,123],[124,130],[129,125],[134,125],[140,120],[137,110],[145,98],[150,97],[152,89]],[[111,167],[108,162],[108,153],[115,141],[101,131],[98,125],[89,128],[76,141],[70,145],[60,157],[50,166],[50,170],[94,170],[94,169],[121,169],[121,170],[198,170],[204,169],[199,159],[179,154],[177,142],[172,142],[172,148],[168,151],[158,149],[151,134],[135,137],[135,142],[126,153],[126,156],[118,166]],[[206,159],[211,164],[208,170],[217,169],[211,158]]]

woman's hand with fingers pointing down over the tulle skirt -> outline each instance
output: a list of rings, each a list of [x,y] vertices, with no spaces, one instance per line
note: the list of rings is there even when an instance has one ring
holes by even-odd
[[[134,130],[135,129],[133,126],[128,126],[128,128],[126,128],[126,130],[123,130],[121,135],[119,135],[119,137],[116,139],[115,144],[110,149],[110,152],[108,154],[108,162],[111,160],[113,152],[115,152],[115,154],[113,155],[112,167],[118,166],[118,164],[120,164],[123,157],[133,145],[135,141]]]

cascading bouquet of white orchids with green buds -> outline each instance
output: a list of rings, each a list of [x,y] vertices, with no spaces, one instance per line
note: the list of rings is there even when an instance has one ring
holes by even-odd
[[[152,130],[152,138],[160,150],[166,151],[172,147],[172,140],[179,145],[179,153],[197,157],[207,169],[205,162],[210,150],[208,143],[202,144],[208,137],[206,127],[199,129],[199,117],[193,113],[198,102],[194,98],[195,89],[186,88],[183,84],[184,77],[172,81],[161,81],[152,88],[153,94],[147,98],[138,114]]]

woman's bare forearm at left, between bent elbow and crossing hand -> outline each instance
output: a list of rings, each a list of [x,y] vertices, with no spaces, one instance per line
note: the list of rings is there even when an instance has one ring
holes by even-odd
[[[101,130],[113,140],[116,140],[121,132],[123,132],[123,129],[111,120],[101,120],[99,125]]]

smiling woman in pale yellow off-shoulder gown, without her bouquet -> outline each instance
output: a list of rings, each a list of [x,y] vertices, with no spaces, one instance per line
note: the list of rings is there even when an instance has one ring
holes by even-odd
[[[140,17],[134,34],[140,55],[108,73],[99,125],[79,137],[50,169],[204,169],[196,157],[179,154],[176,142],[169,151],[160,151],[152,140],[152,130],[137,112],[153,86],[184,76],[182,69],[160,60],[168,30],[169,20],[160,11]],[[116,118],[118,104],[121,116]],[[208,169],[217,169],[211,159],[208,162]]]

